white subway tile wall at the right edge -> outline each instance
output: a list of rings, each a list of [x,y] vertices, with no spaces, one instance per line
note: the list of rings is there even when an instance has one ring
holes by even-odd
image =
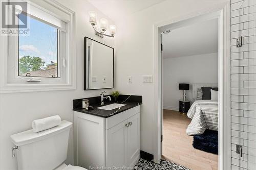
[[[243,37],[243,45],[236,40]],[[256,0],[231,0],[231,169],[256,169]],[[243,146],[242,157],[236,144]]]

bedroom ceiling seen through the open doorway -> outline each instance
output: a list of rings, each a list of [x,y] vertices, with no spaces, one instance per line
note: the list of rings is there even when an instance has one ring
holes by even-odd
[[[218,19],[171,30],[163,34],[163,58],[218,52]]]

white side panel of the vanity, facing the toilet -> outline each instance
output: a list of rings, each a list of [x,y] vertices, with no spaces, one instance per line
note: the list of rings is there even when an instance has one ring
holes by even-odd
[[[104,118],[74,111],[74,164],[105,166]]]

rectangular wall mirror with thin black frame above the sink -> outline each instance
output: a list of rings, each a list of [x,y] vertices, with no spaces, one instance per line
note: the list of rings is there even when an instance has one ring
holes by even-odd
[[[114,88],[114,48],[84,37],[84,90]]]

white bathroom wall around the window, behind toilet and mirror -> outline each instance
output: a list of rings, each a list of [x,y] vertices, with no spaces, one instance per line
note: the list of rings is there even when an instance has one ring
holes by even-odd
[[[58,0],[61,4],[76,12],[76,90],[46,91],[0,94],[0,169],[17,169],[16,158],[12,158],[13,144],[10,135],[31,129],[33,119],[59,114],[62,119],[73,122],[72,100],[98,96],[102,90],[83,90],[83,37],[92,39],[114,47],[114,39],[103,39],[94,35],[94,30],[88,22],[88,12],[94,10],[98,17],[104,17],[87,1]],[[112,21],[109,19],[109,22]],[[113,23],[113,22],[112,22]],[[111,90],[107,90],[111,91]],[[73,128],[69,138],[68,159],[66,163],[73,164],[74,140]]]

